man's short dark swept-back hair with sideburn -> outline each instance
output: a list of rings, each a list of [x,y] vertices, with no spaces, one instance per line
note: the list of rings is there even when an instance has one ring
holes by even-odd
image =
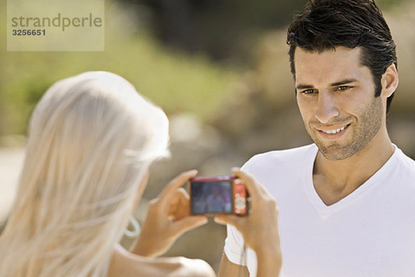
[[[398,66],[396,44],[374,0],[309,0],[288,27],[287,44],[294,78],[297,46],[318,53],[336,46],[359,46],[361,63],[369,67],[374,79],[375,96],[380,96],[387,67]],[[393,96],[387,99],[387,112]]]

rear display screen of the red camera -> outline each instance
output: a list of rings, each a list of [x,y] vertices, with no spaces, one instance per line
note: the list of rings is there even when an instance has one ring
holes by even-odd
[[[232,181],[192,182],[192,213],[232,213]]]

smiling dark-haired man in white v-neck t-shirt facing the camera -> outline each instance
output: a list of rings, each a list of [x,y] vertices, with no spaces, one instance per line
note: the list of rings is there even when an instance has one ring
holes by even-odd
[[[398,73],[385,19],[371,0],[311,0],[287,42],[314,144],[243,166],[279,207],[280,276],[415,276],[415,161],[387,133]],[[256,276],[243,238],[228,225],[219,276]]]

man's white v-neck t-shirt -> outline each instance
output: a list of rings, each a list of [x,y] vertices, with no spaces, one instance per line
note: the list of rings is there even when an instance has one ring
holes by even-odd
[[[415,276],[415,161],[394,154],[365,184],[326,206],[313,186],[317,146],[252,157],[243,170],[279,207],[282,277]],[[359,168],[356,168],[359,170]],[[225,254],[256,276],[252,249],[228,225]]]

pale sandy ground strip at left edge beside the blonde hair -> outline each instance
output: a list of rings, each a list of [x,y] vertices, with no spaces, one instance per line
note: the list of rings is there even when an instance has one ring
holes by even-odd
[[[0,148],[0,226],[15,197],[23,159],[22,148]]]

